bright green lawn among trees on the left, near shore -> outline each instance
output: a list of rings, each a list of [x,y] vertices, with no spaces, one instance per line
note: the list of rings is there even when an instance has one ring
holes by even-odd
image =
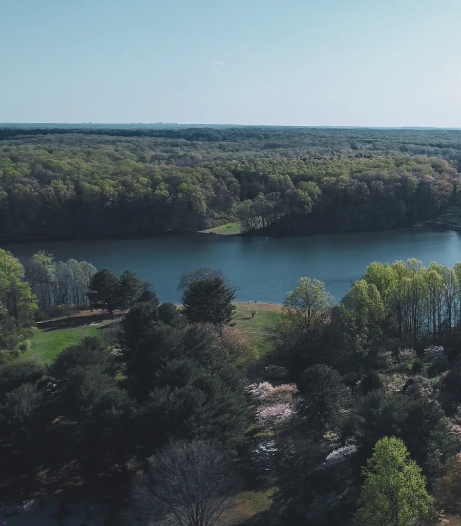
[[[35,358],[49,363],[63,349],[76,345],[86,336],[101,334],[98,327],[82,325],[54,330],[39,330],[31,339],[30,347],[22,353],[23,358]]]

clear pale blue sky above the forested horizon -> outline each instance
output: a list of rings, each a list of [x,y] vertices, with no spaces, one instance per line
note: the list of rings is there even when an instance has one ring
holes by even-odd
[[[0,122],[461,127],[461,0],[0,0]]]

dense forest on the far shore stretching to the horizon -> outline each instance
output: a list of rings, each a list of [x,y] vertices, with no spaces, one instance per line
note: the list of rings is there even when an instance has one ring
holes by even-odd
[[[408,226],[458,210],[459,171],[457,130],[16,126],[0,239]]]

